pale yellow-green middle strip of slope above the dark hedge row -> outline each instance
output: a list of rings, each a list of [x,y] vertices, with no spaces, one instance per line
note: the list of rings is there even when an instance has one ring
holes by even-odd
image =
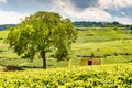
[[[100,50],[100,54],[107,53],[132,53],[131,44],[132,40],[128,40],[129,43],[122,43],[121,41],[109,41],[109,42],[90,42],[90,43],[81,43],[81,44],[74,44],[73,51],[78,52],[78,54],[90,54],[97,53],[97,50]],[[80,52],[81,51],[81,52]]]

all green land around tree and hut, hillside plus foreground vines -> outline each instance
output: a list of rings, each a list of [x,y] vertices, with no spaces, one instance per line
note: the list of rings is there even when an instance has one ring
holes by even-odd
[[[0,32],[0,65],[42,66],[21,58],[3,43],[8,31]],[[56,62],[47,54],[47,69],[24,68],[0,72],[0,88],[132,88],[131,30],[80,29],[72,45],[70,61]],[[102,65],[79,66],[84,55],[101,56]],[[37,59],[40,58],[40,59]]]

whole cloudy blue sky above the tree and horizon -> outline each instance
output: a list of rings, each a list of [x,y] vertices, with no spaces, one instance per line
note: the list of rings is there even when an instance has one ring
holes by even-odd
[[[132,24],[132,0],[0,0],[0,24],[18,24],[37,11],[53,11],[74,21]]]

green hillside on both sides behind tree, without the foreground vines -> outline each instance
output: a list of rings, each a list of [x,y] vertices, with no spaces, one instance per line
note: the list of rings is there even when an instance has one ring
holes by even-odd
[[[0,65],[19,66],[42,66],[42,59],[36,57],[34,62],[22,59],[12,50],[3,44],[8,31],[0,32]],[[77,42],[73,44],[70,51],[70,65],[79,66],[79,61],[84,55],[102,56],[102,64],[131,63],[132,62],[132,34],[131,30],[110,28],[81,28],[78,30]],[[68,61],[56,62],[47,54],[47,67],[66,67]]]

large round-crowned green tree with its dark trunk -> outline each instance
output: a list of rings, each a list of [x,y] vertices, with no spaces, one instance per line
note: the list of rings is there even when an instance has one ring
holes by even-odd
[[[8,28],[6,42],[18,55],[33,59],[37,54],[46,68],[46,53],[52,52],[58,61],[68,56],[70,45],[77,37],[77,31],[69,19],[58,13],[38,11],[26,16],[18,26]]]

